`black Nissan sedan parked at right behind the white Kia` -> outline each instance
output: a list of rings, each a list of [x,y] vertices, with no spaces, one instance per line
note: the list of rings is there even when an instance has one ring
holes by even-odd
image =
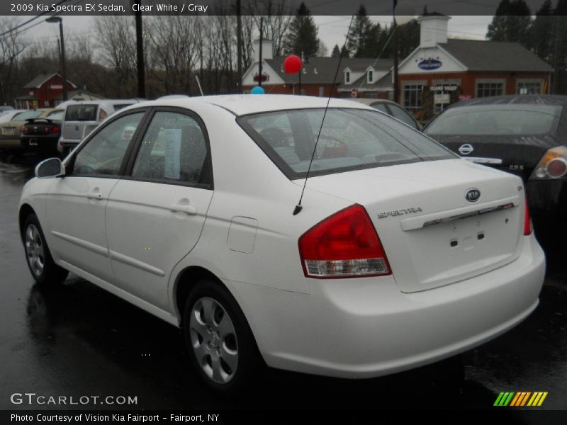
[[[473,162],[522,177],[534,231],[567,242],[567,96],[496,96],[461,101],[425,134]]]

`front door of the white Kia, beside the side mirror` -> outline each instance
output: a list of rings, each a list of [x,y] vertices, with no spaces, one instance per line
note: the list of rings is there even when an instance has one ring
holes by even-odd
[[[123,174],[144,115],[121,115],[96,132],[73,154],[67,175],[54,181],[47,197],[54,256],[106,282],[113,280],[104,223],[108,195]]]

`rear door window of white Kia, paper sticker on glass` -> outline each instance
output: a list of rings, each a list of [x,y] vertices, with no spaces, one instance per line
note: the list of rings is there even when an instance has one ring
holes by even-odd
[[[206,137],[195,118],[184,113],[155,113],[132,169],[135,179],[172,183],[210,183]]]

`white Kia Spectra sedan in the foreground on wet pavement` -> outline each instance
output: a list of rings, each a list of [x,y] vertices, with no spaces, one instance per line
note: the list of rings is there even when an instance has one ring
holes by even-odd
[[[203,380],[228,392],[262,359],[374,377],[527,317],[545,261],[522,180],[368,106],[332,99],[325,115],[326,104],[247,95],[125,108],[26,184],[33,278],[72,271],[181,327]]]

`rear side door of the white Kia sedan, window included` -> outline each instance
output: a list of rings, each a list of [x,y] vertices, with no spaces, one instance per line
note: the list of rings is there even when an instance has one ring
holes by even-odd
[[[164,309],[172,269],[196,245],[213,198],[202,120],[183,109],[153,111],[126,174],[106,208],[116,285]]]

